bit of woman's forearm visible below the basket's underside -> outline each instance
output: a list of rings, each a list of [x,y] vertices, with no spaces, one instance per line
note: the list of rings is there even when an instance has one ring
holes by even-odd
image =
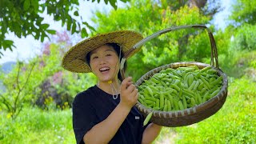
[[[150,123],[148,126],[146,126],[146,129],[144,130],[142,136],[142,144],[148,144],[153,142],[154,139],[158,137],[158,134],[160,133],[161,129],[162,126],[158,126],[154,123]]]

